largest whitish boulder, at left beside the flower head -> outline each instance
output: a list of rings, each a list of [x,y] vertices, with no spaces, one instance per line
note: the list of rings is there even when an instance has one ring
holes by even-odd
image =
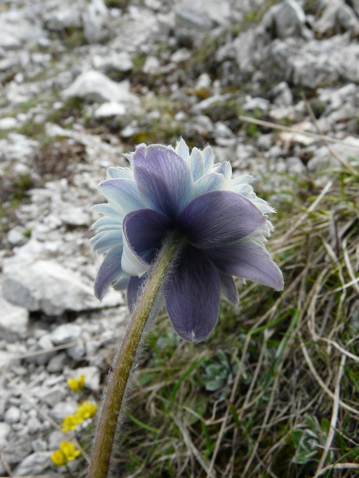
[[[27,260],[26,267],[21,257],[4,260],[3,295],[9,302],[49,316],[101,307],[87,279],[55,260]]]

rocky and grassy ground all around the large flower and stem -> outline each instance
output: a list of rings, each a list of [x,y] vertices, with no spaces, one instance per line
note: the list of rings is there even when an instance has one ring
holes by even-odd
[[[200,344],[156,320],[113,476],[357,476],[358,38],[358,0],[0,0],[1,476],[85,476],[128,320],[90,207],[180,136],[256,178],[286,288]]]

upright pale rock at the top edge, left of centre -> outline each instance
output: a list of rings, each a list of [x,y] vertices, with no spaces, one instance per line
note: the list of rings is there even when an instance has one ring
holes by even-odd
[[[108,10],[104,0],[91,0],[85,7],[84,37],[88,43],[104,40],[108,35],[106,21]]]

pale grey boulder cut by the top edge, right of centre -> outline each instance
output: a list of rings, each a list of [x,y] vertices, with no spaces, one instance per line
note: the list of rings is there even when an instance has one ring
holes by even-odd
[[[288,37],[302,37],[308,40],[313,36],[305,26],[304,11],[296,0],[285,0],[271,7],[260,26],[272,40]]]

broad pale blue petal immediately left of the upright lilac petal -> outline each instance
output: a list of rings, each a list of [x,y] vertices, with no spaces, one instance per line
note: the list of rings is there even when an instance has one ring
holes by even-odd
[[[134,209],[144,207],[134,179],[106,179],[99,189],[113,209],[127,214]]]

